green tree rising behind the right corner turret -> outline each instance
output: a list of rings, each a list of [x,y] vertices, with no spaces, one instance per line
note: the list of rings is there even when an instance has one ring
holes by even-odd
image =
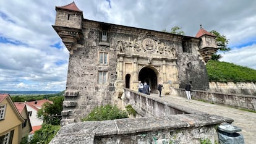
[[[213,35],[216,35],[216,44],[217,44],[218,51],[223,51],[223,52],[230,51],[230,48],[228,48],[229,40],[226,38],[225,35],[221,35],[216,30],[211,30],[210,33]],[[218,51],[215,54],[213,54],[213,56],[211,57],[212,60],[218,61],[219,59],[221,59],[222,56],[221,54],[217,54]]]

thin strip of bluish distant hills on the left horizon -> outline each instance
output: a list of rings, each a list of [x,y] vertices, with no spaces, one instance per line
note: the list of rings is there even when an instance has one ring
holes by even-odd
[[[61,91],[6,91],[0,90],[0,93],[9,93],[10,95],[48,95],[55,94]]]

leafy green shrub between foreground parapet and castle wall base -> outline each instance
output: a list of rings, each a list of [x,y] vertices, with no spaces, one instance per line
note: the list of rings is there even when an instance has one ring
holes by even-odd
[[[117,106],[111,106],[106,104],[105,106],[97,106],[95,109],[88,114],[87,117],[81,119],[82,121],[106,121],[113,119],[124,119],[128,118],[126,111],[122,111]]]

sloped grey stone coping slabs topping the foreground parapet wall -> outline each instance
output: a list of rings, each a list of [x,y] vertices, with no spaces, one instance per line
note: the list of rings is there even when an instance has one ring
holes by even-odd
[[[213,127],[223,122],[232,123],[233,119],[200,113],[116,119],[113,121],[77,122],[61,127],[50,143],[93,144],[95,137],[115,137],[117,135],[129,137],[133,133],[147,133],[157,130]]]

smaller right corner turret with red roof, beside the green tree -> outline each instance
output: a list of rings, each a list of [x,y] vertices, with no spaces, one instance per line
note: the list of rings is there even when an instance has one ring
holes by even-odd
[[[211,56],[218,50],[215,40],[216,36],[204,30],[202,25],[200,25],[200,30],[195,37],[201,38],[199,53],[202,55],[203,60],[208,62]]]

